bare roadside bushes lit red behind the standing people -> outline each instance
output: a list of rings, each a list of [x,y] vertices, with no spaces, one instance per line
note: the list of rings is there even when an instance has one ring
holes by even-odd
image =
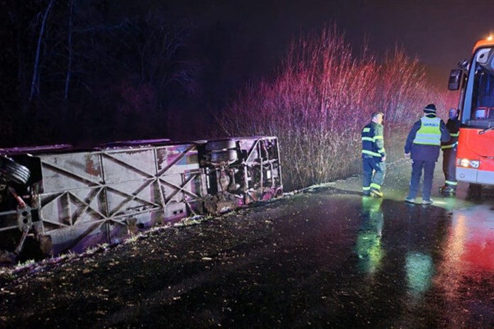
[[[417,58],[402,48],[378,62],[352,54],[336,27],[293,40],[278,74],[251,84],[217,118],[223,133],[278,136],[286,190],[348,177],[361,170],[361,128],[385,113],[388,161],[402,155],[404,136],[434,102]]]

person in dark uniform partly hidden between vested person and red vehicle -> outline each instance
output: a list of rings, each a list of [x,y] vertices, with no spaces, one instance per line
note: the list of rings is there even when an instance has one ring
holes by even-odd
[[[441,143],[443,151],[443,172],[444,186],[439,188],[439,193],[450,195],[456,194],[456,148],[458,147],[458,136],[460,131],[460,121],[458,119],[458,110],[451,108],[449,110],[448,122],[446,122],[451,139],[448,142]]]

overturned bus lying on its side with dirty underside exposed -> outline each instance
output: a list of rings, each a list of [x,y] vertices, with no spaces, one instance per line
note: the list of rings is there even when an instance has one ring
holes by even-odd
[[[0,252],[59,255],[282,195],[278,138],[0,150]],[[0,259],[1,261],[1,259]]]

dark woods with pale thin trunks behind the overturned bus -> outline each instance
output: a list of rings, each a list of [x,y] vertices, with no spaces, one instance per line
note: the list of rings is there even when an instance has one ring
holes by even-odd
[[[200,65],[190,56],[194,26],[166,1],[1,6],[2,147],[197,133],[202,118],[186,110],[201,94]]]

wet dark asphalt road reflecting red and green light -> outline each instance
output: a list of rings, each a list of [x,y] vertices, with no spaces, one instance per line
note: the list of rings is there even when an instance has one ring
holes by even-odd
[[[435,193],[432,206],[410,205],[402,201],[410,168],[388,172],[384,199],[363,198],[354,177],[180,228],[175,247],[155,245],[160,264],[143,255],[129,269],[128,249],[110,250],[111,268],[96,262],[127,282],[126,298],[135,295],[127,306],[116,292],[94,316],[60,280],[51,289],[65,294],[65,305],[52,305],[48,322],[42,307],[16,301],[32,294],[39,305],[46,280],[0,306],[31,310],[24,323],[51,328],[494,328],[494,191],[472,196],[460,184],[456,198]],[[76,276],[79,289],[91,289],[94,275]],[[124,289],[111,284],[97,279],[106,291]],[[63,313],[74,301],[77,310]],[[1,313],[6,325],[21,323]]]

